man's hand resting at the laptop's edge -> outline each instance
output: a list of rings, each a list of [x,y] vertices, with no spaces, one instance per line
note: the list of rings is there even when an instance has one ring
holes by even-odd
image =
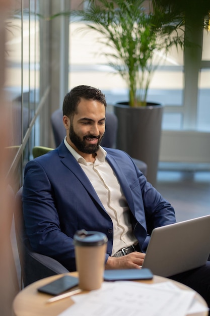
[[[122,257],[109,257],[106,261],[105,270],[108,269],[141,269],[145,253],[131,252]]]

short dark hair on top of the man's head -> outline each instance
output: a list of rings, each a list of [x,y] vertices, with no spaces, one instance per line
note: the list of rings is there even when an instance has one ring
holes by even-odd
[[[104,107],[106,108],[107,104],[105,95],[101,92],[101,90],[90,86],[80,85],[66,93],[63,100],[63,115],[66,115],[67,117],[74,117],[77,113],[77,107],[81,98],[99,101],[104,104]]]

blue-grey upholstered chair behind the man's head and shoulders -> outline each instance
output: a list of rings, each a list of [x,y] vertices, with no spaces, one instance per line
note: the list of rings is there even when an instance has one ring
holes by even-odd
[[[55,140],[55,146],[59,146],[61,141],[66,135],[65,128],[62,122],[63,114],[62,110],[58,109],[52,113],[51,116],[51,124],[52,124],[52,131]],[[102,139],[101,145],[108,148],[114,148],[116,137],[117,137],[117,127],[118,127],[118,120],[117,116],[112,112],[106,112],[106,130],[104,137]],[[147,175],[147,164],[141,160],[132,158],[133,162],[137,166],[139,170],[143,172],[143,174]]]

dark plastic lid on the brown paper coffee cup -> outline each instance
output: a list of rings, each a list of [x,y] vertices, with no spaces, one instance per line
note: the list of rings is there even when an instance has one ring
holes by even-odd
[[[107,243],[107,236],[96,231],[77,231],[74,235],[74,244],[77,246],[101,246]]]

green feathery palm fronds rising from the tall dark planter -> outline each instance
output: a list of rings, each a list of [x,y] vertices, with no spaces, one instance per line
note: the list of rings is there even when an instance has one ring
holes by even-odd
[[[84,10],[71,13],[86,23],[85,29],[99,35],[99,42],[111,48],[111,52],[105,50],[102,54],[108,59],[108,65],[125,80],[130,106],[136,102],[145,104],[156,69],[155,52],[167,54],[173,45],[183,48],[187,44],[184,12],[177,10],[172,0],[149,0],[148,3],[149,8],[145,8],[144,0],[89,0]]]

